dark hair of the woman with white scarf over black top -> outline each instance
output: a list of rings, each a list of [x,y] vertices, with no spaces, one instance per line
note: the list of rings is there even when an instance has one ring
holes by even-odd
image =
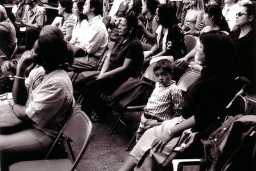
[[[169,28],[174,24],[178,24],[178,19],[174,8],[170,4],[158,5],[159,24],[163,27]]]

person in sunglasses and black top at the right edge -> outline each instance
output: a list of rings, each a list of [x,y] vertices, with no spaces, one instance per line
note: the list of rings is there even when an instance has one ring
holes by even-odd
[[[251,81],[247,89],[249,94],[256,93],[255,20],[255,5],[243,4],[236,14],[238,29],[229,34],[242,62],[244,76]]]

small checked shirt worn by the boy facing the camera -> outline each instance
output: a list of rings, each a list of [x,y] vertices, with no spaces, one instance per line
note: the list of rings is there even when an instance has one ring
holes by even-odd
[[[182,105],[182,94],[174,81],[166,87],[157,82],[144,110],[145,114],[165,121],[180,116]]]

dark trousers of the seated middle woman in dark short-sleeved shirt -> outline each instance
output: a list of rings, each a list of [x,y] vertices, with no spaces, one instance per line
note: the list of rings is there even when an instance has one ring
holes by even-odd
[[[90,79],[92,78],[88,78],[88,80]],[[81,110],[87,115],[91,115],[94,110],[99,117],[106,117],[106,115],[111,112],[111,109],[108,107],[107,103],[102,100],[102,93],[112,94],[126,80],[126,78],[108,76],[86,83],[82,90],[82,84],[79,82],[78,90],[81,90],[80,92],[84,97]],[[85,82],[86,80],[84,80],[84,83]]]

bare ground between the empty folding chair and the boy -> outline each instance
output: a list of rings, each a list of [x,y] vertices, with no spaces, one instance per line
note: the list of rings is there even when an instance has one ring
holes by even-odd
[[[131,131],[136,131],[139,126],[141,114],[137,112],[124,115],[124,121],[129,124],[131,130],[118,123],[114,132],[110,133],[108,128],[115,115],[109,116],[106,123],[93,123],[92,140],[76,170],[118,170],[129,155],[130,151],[125,149],[132,138]],[[135,142],[132,147],[134,144]]]

